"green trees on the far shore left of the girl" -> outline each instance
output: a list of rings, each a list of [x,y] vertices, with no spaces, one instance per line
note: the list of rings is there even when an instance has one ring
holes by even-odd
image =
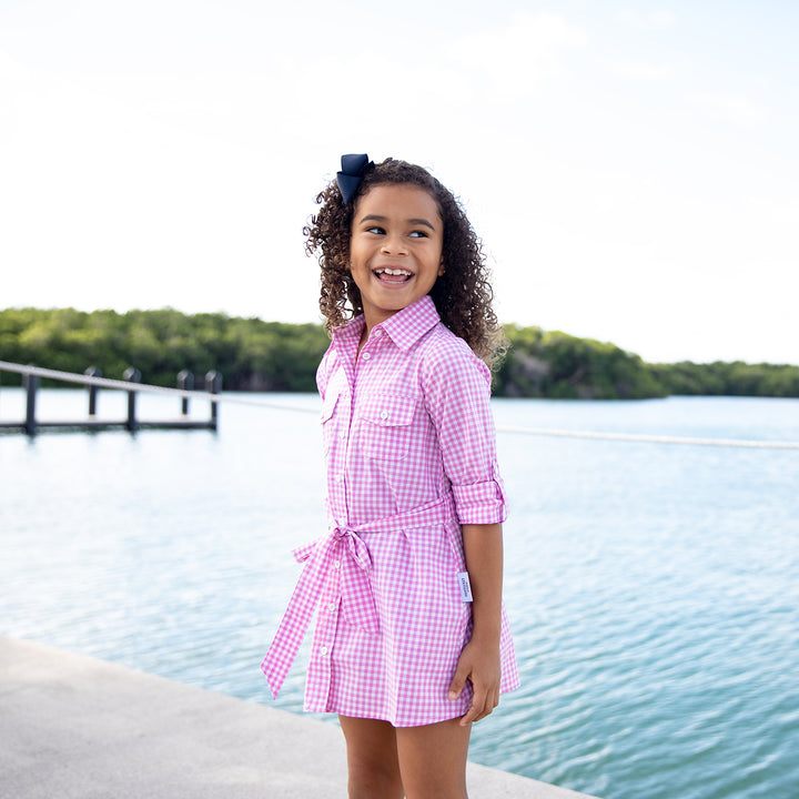
[[[229,391],[315,390],[316,366],[330,343],[322,325],[291,325],[172,309],[83,313],[73,309],[0,311],[0,360],[82,373],[89,366],[121,378],[174,386],[189,370],[198,384],[211,370]],[[6,385],[19,384],[3,375]]]

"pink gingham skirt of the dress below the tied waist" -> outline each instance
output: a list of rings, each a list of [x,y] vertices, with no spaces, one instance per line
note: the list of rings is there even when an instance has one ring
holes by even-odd
[[[372,558],[370,583],[380,631],[347,618],[341,574],[331,569],[311,647],[305,709],[415,727],[463,716],[472,686],[448,699],[458,657],[472,635],[472,605],[462,599],[465,569],[459,527],[438,525],[361,535]],[[519,685],[503,608],[502,685]]]

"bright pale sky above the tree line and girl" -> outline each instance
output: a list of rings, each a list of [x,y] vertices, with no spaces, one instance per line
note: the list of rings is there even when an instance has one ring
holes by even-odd
[[[0,309],[318,322],[302,227],[367,152],[461,199],[503,323],[799,364],[797,30],[792,0],[0,0]]]

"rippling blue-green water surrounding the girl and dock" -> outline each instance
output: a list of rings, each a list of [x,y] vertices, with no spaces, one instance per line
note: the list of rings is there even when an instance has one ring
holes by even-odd
[[[142,396],[140,415],[175,403]],[[42,392],[42,417],[84,408],[84,392]],[[0,418],[21,413],[1,390]],[[799,441],[796,400],[495,414]],[[475,727],[471,758],[604,799],[799,797],[799,452],[509,433],[498,447],[523,688]],[[0,631],[270,704],[259,665],[296,578],[287,553],[324,525],[318,452],[313,413],[227,404],[216,435],[0,436]],[[306,651],[276,706],[301,711]]]

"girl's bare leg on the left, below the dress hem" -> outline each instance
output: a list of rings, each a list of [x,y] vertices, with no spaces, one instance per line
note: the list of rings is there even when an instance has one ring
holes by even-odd
[[[387,721],[338,716],[347,745],[350,799],[402,799],[396,730]]]

